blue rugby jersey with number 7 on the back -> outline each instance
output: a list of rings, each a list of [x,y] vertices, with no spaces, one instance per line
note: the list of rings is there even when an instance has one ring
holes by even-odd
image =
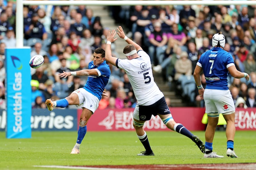
[[[228,67],[235,65],[230,53],[219,47],[204,52],[197,62],[203,68],[206,89],[228,90]]]

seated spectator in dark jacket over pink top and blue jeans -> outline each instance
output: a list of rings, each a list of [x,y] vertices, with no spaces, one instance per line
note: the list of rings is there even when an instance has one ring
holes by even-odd
[[[161,64],[164,60],[164,52],[166,50],[167,35],[162,31],[161,23],[154,24],[154,31],[148,37],[150,46],[148,47],[148,54],[151,57],[151,63],[157,65]],[[156,62],[155,62],[156,61]]]

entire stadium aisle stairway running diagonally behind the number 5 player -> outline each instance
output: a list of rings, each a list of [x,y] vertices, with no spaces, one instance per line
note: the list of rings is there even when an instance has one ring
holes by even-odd
[[[115,20],[111,18],[110,13],[108,11],[108,7],[106,6],[95,6],[95,5],[90,5],[87,8],[91,8],[93,10],[93,15],[94,16],[99,16],[100,17],[100,22],[103,25],[104,28],[108,27],[111,30],[116,29],[118,25],[116,25]],[[123,25],[122,25],[123,26]],[[125,30],[125,26],[123,26]],[[116,35],[118,37],[118,35]],[[123,48],[124,46],[127,45],[127,43],[124,40],[121,40],[118,38],[116,41],[116,52],[119,55],[119,58],[125,58],[123,54]],[[181,96],[177,96],[175,91],[171,91],[170,87],[163,82],[162,76],[159,73],[154,74],[154,79],[160,90],[164,93],[165,97],[169,97],[171,99],[171,105],[172,107],[185,107],[186,103],[182,101]]]

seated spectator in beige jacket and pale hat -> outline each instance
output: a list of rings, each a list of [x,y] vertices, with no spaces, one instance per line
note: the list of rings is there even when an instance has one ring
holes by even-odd
[[[179,80],[181,75],[191,76],[192,75],[192,62],[188,59],[188,53],[182,51],[180,58],[175,63],[175,75],[174,80]]]

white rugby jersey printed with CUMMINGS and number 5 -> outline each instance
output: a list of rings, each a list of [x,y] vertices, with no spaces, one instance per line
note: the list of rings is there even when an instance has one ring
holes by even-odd
[[[152,73],[150,57],[145,51],[139,50],[139,58],[132,60],[117,59],[116,67],[123,69],[130,80],[138,105],[152,105],[164,97],[156,85]]]

